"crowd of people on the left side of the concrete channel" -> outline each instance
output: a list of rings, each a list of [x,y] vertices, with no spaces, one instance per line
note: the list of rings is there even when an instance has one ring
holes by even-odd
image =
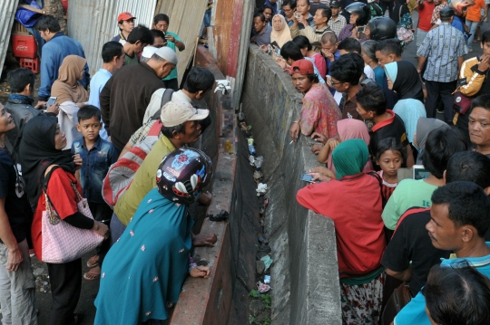
[[[79,324],[82,281],[100,279],[95,324],[152,324],[168,318],[188,275],[207,278],[191,259],[215,234],[192,233],[212,162],[201,151],[209,110],[196,108],[214,86],[194,67],[179,87],[176,51],[185,43],[157,14],[153,29],[129,12],[103,44],[89,75],[83,46],[54,16],[35,24],[45,43],[35,75],[7,75],[0,104],[0,308],[3,324],[37,324],[31,256],[47,264],[49,324]],[[134,157],[142,158],[137,163]],[[137,165],[137,166],[136,166]],[[162,218],[162,215],[165,217]],[[86,263],[82,257],[96,254]],[[126,282],[126,283],[124,283]]]

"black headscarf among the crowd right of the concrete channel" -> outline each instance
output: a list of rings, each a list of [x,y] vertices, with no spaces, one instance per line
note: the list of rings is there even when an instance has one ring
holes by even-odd
[[[393,90],[397,91],[398,100],[420,100],[424,102],[422,81],[417,68],[407,61],[397,62],[397,80],[393,83]]]

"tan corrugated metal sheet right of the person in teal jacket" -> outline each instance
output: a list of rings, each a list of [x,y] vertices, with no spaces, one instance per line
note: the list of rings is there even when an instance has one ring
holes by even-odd
[[[201,30],[202,20],[208,2],[204,0],[163,0],[160,8],[161,14],[167,14],[170,17],[169,32],[176,33],[185,43],[185,50],[179,52],[179,64],[177,72],[179,73],[179,83],[185,72],[197,45],[199,32]]]

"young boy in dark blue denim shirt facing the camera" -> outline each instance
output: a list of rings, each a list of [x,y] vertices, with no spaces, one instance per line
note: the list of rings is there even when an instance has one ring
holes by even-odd
[[[117,161],[119,152],[113,144],[99,136],[102,129],[101,110],[93,105],[86,105],[78,110],[77,117],[76,129],[82,132],[83,138],[73,141],[72,154],[79,154],[83,159],[83,166],[79,170],[83,197],[88,201],[93,218],[109,225],[113,210],[103,201],[103,177]],[[84,273],[83,279],[93,281],[101,276],[99,265],[102,265],[109,247],[110,241],[106,240],[97,248],[97,254],[87,262],[87,266],[93,269]]]

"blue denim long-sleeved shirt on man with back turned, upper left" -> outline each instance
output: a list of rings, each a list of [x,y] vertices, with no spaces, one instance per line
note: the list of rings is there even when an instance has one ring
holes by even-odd
[[[41,58],[41,86],[39,87],[38,99],[47,101],[51,96],[53,82],[58,79],[58,70],[68,55],[78,55],[85,58],[82,44],[73,40],[64,33],[59,32],[43,46],[43,57]],[[90,83],[88,65],[83,68],[85,77],[80,81],[84,88]]]

